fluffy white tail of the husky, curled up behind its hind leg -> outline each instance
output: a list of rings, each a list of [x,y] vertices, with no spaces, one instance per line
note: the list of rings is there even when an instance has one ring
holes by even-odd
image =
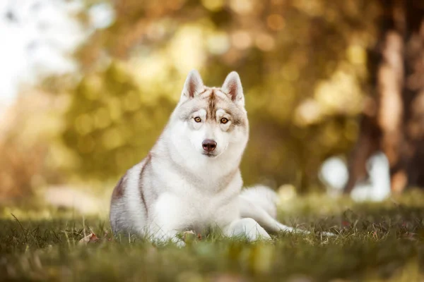
[[[271,188],[264,185],[248,187],[242,190],[240,197],[261,207],[273,219],[277,218],[277,205],[280,201],[277,193]]]

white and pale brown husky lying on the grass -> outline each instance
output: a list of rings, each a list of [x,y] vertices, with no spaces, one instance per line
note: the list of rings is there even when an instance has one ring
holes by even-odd
[[[178,234],[218,226],[224,235],[269,239],[295,231],[276,221],[276,194],[257,187],[242,192],[240,161],[249,139],[242,83],[230,73],[222,87],[206,87],[191,71],[158,141],[119,180],[110,222],[117,233],[184,242]]]

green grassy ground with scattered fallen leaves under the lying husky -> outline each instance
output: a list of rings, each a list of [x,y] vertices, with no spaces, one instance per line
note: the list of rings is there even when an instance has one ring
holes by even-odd
[[[338,236],[211,235],[179,249],[112,238],[105,214],[3,208],[0,281],[424,281],[422,192],[374,204],[298,197],[281,206],[280,220]],[[78,244],[91,231],[100,240]]]

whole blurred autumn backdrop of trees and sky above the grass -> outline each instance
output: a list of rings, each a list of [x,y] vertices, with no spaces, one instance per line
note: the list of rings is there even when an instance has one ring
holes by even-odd
[[[420,190],[423,18],[418,0],[1,1],[0,211],[107,216],[192,68],[211,86],[240,74],[246,185],[282,199]]]

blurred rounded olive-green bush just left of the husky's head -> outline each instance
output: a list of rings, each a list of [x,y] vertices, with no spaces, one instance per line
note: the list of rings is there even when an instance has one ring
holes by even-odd
[[[152,103],[119,63],[86,75],[74,91],[64,140],[81,158],[78,171],[96,178],[139,162],[174,106],[165,94]]]

